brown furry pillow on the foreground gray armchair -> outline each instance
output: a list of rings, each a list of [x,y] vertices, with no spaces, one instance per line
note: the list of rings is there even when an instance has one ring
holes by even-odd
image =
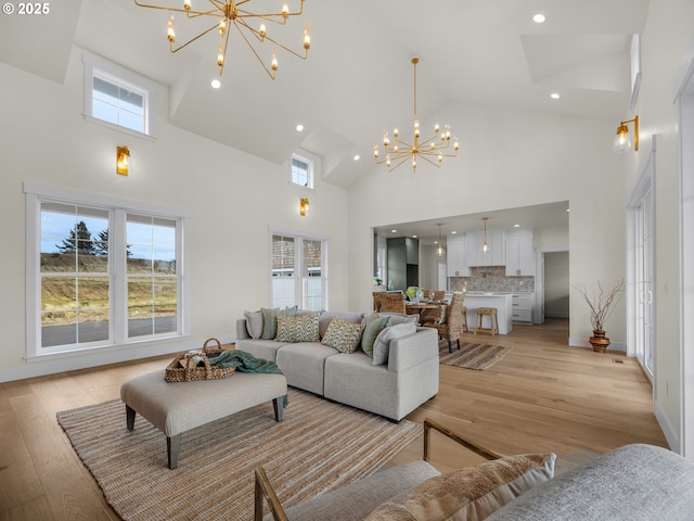
[[[404,500],[380,505],[367,521],[486,519],[524,492],[552,479],[555,460],[551,453],[509,456],[429,478]]]

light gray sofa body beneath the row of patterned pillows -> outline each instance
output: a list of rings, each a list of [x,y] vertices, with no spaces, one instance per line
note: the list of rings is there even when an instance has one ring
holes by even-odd
[[[354,353],[340,353],[324,340],[335,317],[363,323],[371,314],[322,312],[320,340],[286,342],[252,336],[252,317],[236,320],[236,348],[274,361],[287,384],[325,398],[399,421],[438,393],[438,335],[435,329],[414,325],[410,334],[387,342],[385,364],[374,365],[361,344]],[[297,316],[314,312],[297,312]],[[383,316],[383,315],[382,315]],[[408,320],[393,315],[394,322]],[[393,329],[393,328],[390,328]],[[387,332],[384,330],[384,334]],[[381,338],[386,338],[381,335]]]

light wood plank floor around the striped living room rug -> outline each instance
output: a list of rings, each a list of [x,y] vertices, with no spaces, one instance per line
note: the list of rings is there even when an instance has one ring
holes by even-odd
[[[438,396],[408,418],[436,419],[502,454],[604,453],[637,442],[667,446],[635,360],[567,347],[567,336],[566,320],[514,326],[511,334],[493,339],[466,334],[464,340],[513,350],[487,371],[440,366]],[[117,520],[55,414],[116,398],[124,380],[163,369],[170,358],[0,384],[0,521]],[[421,458],[421,445],[413,442],[390,465]],[[475,458],[434,440],[433,462],[441,471]]]

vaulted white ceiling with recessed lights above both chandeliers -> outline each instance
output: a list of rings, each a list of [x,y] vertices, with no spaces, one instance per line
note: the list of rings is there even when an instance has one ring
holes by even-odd
[[[247,5],[256,3],[280,1]],[[278,164],[305,148],[323,157],[327,181],[348,187],[373,167],[383,129],[411,122],[415,54],[423,120],[455,102],[619,120],[631,35],[642,31],[648,0],[306,0],[308,60],[278,51],[272,81],[246,45],[231,40],[219,90],[210,88],[219,76],[215,31],[171,54],[165,11],[131,0],[50,5],[48,16],[0,17],[0,61],[62,82],[78,46],[168,87],[174,125]],[[537,12],[544,24],[532,22]],[[181,41],[196,34],[187,23],[177,21]],[[300,47],[303,27],[291,20],[280,39]],[[260,50],[269,60],[272,49]]]

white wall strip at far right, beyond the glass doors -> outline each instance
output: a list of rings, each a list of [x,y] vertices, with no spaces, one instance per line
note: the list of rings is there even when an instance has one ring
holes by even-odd
[[[691,0],[652,1],[642,41],[642,80],[635,113],[640,118],[642,145],[626,157],[626,187],[657,135],[655,155],[655,302],[656,361],[655,409],[673,449],[678,449],[680,408],[680,285],[678,272],[678,158],[677,117],[673,91],[677,73],[694,37]],[[632,117],[631,115],[629,117]],[[687,143],[692,147],[692,143]],[[691,267],[690,267],[691,268]],[[686,267],[685,267],[686,269]],[[684,317],[685,320],[691,317]],[[685,348],[692,348],[686,346]]]

